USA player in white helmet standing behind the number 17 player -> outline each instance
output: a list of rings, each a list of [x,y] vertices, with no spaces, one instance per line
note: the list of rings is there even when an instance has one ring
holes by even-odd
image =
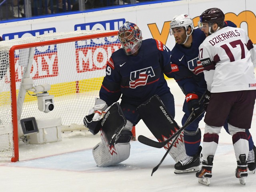
[[[228,21],[225,25],[235,27],[234,23]],[[188,116],[194,110],[195,115],[200,111],[198,98],[206,91],[206,81],[204,80],[202,64],[198,58],[198,48],[208,34],[204,34],[200,29],[194,29],[192,18],[187,14],[174,16],[170,22],[170,34],[174,36],[176,44],[172,49],[172,75],[176,80],[183,93],[185,101],[183,111],[185,112],[182,118],[182,125],[188,119]],[[204,102],[207,104],[210,95],[206,94]],[[204,115],[201,115],[190,126],[184,130],[184,143],[187,156],[175,164],[174,173],[196,172],[200,166],[200,146],[201,131],[198,127],[200,120]],[[227,130],[227,124],[224,128]],[[249,170],[255,170],[255,146],[252,141],[250,132],[247,132],[251,157],[251,162],[248,163]]]

